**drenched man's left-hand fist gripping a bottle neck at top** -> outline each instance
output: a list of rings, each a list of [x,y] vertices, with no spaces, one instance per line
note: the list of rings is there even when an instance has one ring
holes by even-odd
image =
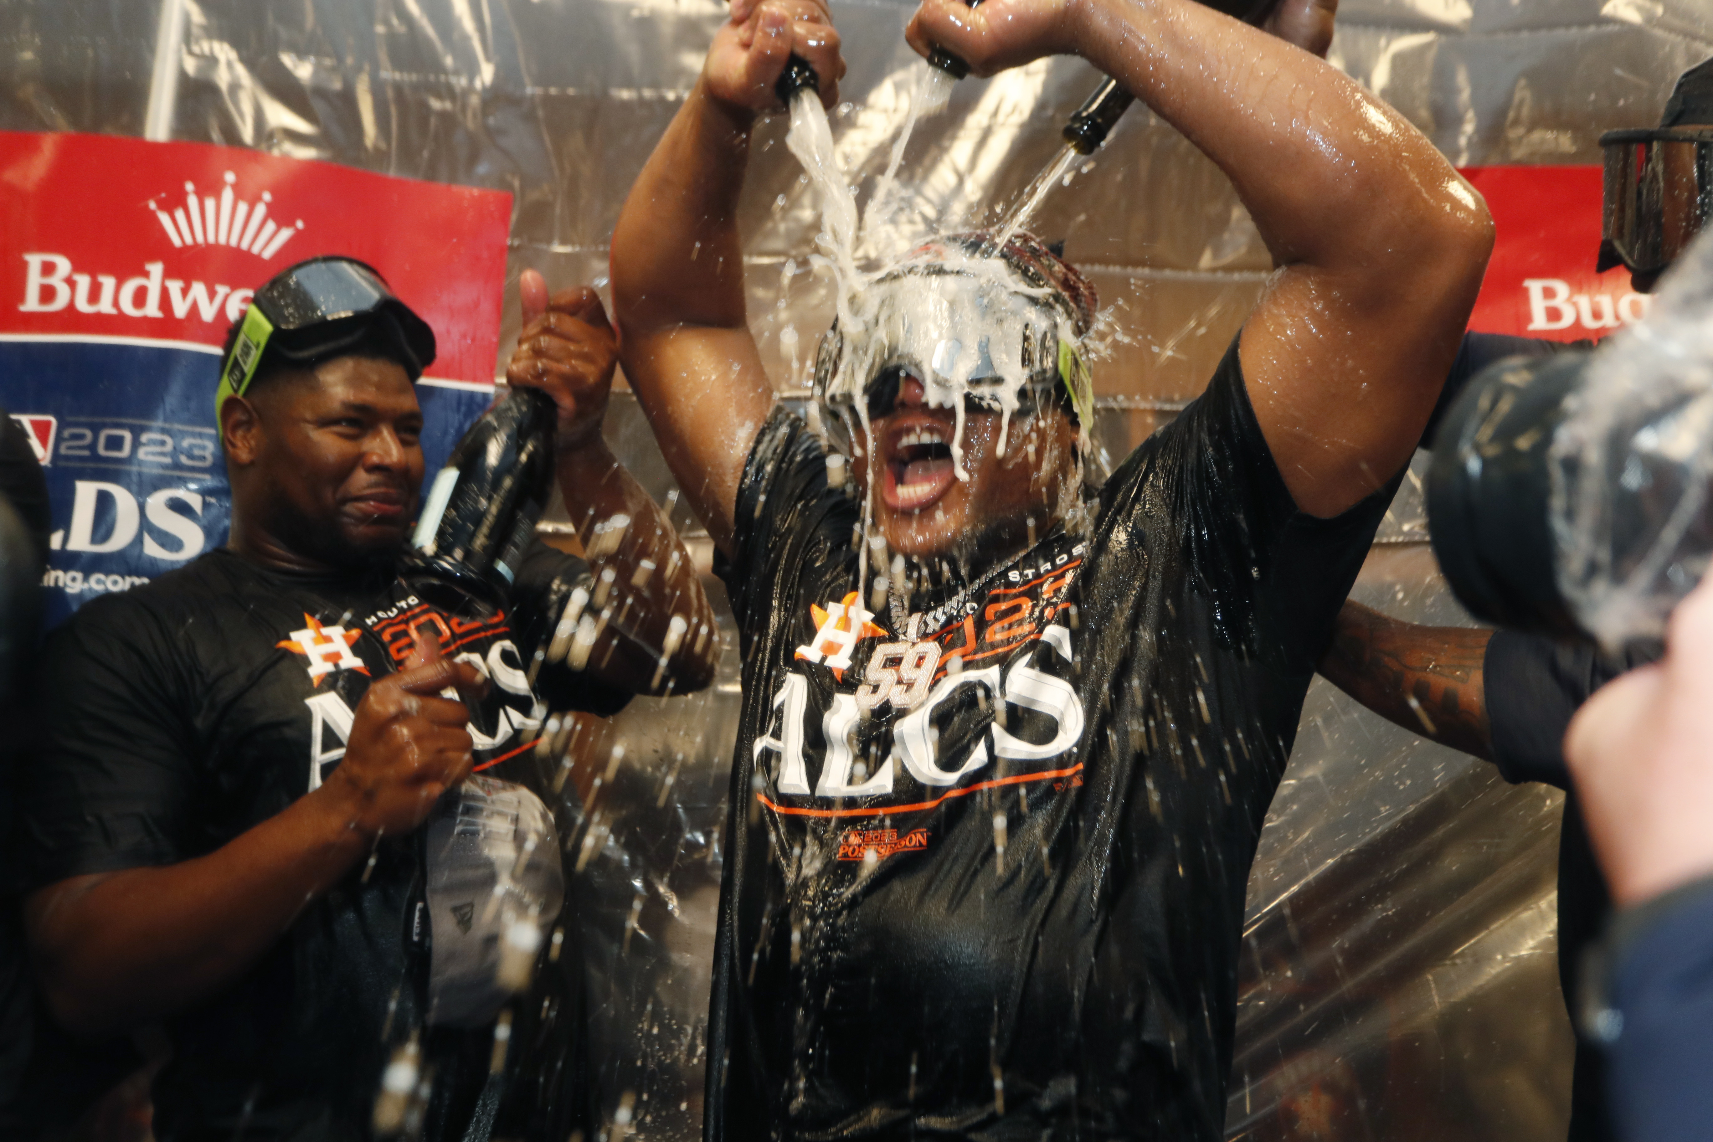
[[[733,0],[731,15],[707,50],[702,82],[713,98],[745,111],[778,111],[773,86],[786,62],[802,57],[821,79],[821,104],[839,101],[845,57],[833,15],[821,0]]]

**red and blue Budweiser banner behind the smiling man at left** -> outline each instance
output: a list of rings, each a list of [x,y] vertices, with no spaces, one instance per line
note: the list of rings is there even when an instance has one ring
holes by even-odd
[[[373,265],[433,327],[428,471],[492,399],[510,195],[188,142],[0,132],[0,402],[53,498],[48,622],[226,539],[226,330],[288,265]]]

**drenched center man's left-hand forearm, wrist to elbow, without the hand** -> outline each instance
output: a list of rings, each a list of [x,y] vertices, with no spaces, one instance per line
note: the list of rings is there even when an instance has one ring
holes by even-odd
[[[632,185],[612,241],[627,341],[680,325],[745,329],[737,207],[752,122],[697,80]]]

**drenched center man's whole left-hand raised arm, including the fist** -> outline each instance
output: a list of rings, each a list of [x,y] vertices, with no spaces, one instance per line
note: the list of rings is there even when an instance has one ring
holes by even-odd
[[[815,67],[833,106],[845,63],[826,7],[733,0],[613,231],[625,377],[678,486],[726,553],[743,461],[773,407],[743,312],[737,204],[750,125],[779,106],[773,86],[793,53]]]

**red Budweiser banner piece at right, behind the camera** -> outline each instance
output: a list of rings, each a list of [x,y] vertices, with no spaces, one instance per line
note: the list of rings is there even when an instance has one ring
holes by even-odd
[[[1629,271],[1595,272],[1598,166],[1482,166],[1463,175],[1487,199],[1497,231],[1470,329],[1598,341],[1648,313]]]

